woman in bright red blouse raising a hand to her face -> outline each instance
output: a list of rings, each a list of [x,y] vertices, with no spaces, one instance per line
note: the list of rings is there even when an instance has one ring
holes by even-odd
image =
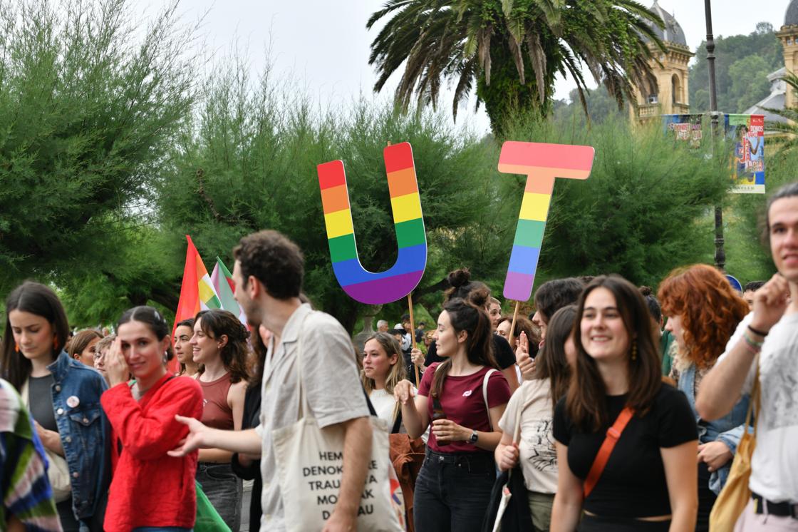
[[[101,399],[120,452],[105,512],[107,532],[188,532],[194,526],[197,452],[174,458],[167,451],[188,434],[175,415],[199,419],[203,395],[194,379],[168,373],[171,358],[168,324],[155,308],[124,312],[105,360],[111,387]],[[132,386],[128,372],[136,379]]]

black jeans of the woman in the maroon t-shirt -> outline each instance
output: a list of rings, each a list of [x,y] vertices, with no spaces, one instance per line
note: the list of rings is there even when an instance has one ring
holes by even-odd
[[[416,530],[479,532],[495,481],[496,464],[489,451],[445,454],[428,449],[413,493]]]

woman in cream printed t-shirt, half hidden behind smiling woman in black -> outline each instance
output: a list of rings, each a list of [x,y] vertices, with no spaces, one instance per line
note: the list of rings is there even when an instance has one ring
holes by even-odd
[[[535,377],[524,381],[512,395],[499,421],[502,437],[496,447],[496,463],[504,471],[520,461],[533,530],[549,530],[551,522],[551,506],[557,491],[557,450],[551,427],[555,404],[566,395],[571,367],[576,362],[571,334],[575,319],[575,305],[563,307],[551,316],[546,343],[535,359]],[[519,349],[528,346],[525,333],[521,333],[518,343]],[[519,409],[520,443],[513,443]]]

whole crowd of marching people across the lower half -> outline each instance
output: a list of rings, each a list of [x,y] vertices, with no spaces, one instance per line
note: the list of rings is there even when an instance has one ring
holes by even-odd
[[[310,530],[293,520],[323,499],[326,532],[494,530],[512,472],[515,530],[709,530],[753,409],[734,530],[798,530],[798,183],[769,199],[766,231],[777,272],[743,292],[703,264],[656,293],[556,279],[527,318],[457,269],[434,328],[381,320],[360,353],[275,231],[233,250],[249,328],[214,309],[172,331],[140,306],[113,334],[71,335],[53,290],[26,281],[6,299],[0,528],[187,532],[207,499],[229,530],[242,511],[251,530]],[[307,423],[340,450],[286,449]],[[308,455],[340,465],[290,469]]]

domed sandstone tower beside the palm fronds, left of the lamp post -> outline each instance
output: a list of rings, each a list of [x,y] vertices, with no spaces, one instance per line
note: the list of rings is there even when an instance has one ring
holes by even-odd
[[[651,59],[649,62],[657,79],[657,86],[653,90],[635,87],[637,105],[629,106],[633,122],[646,121],[661,114],[686,114],[690,109],[687,63],[695,54],[687,46],[685,32],[681,30],[674,15],[663,10],[657,0],[654,0],[650,9],[665,22],[664,29],[654,25],[651,28],[665,44],[666,51],[659,50],[653,42],[648,45],[658,59]]]

